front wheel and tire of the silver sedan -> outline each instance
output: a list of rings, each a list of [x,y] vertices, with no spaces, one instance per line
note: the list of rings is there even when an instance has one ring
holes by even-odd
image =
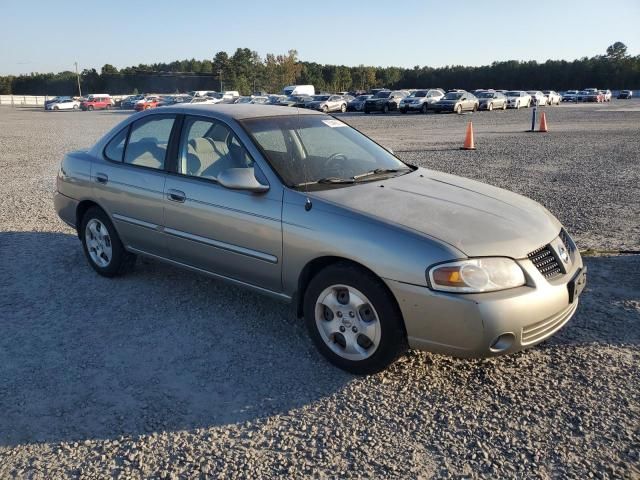
[[[395,299],[379,278],[354,265],[337,263],[313,277],[304,318],[318,350],[350,373],[384,370],[407,348]]]

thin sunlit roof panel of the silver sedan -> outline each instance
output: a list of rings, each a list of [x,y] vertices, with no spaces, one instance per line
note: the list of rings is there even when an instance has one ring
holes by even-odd
[[[281,107],[277,105],[256,105],[256,104],[182,104],[171,107],[163,107],[163,112],[171,110],[175,113],[197,114],[212,113],[218,117],[226,117],[234,120],[243,120],[245,118],[257,117],[278,117],[285,115],[322,115],[314,110],[305,108]]]

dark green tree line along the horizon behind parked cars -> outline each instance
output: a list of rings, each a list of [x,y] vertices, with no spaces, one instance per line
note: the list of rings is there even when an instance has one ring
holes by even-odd
[[[509,60],[480,67],[400,68],[322,65],[299,60],[296,50],[262,58],[248,48],[238,48],[233,55],[218,52],[212,59],[204,60],[140,64],[120,70],[107,64],[100,72],[94,68],[83,70],[80,83],[84,94],[238,90],[248,95],[258,91],[278,93],[292,84],[312,84],[316,90],[328,92],[374,87],[639,89],[640,55],[628,55],[627,47],[616,42],[603,55],[573,61]],[[71,71],[0,76],[0,94],[76,95],[77,92],[76,74]]]

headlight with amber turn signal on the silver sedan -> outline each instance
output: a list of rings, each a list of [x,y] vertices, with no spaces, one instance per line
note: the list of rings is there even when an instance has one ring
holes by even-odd
[[[443,292],[494,292],[525,284],[520,266],[502,257],[443,263],[430,268],[428,276],[431,288]]]

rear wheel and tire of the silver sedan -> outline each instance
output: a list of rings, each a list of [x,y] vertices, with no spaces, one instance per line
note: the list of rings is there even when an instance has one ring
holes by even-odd
[[[89,208],[80,222],[84,255],[98,274],[117,277],[133,269],[136,256],[125,250],[109,216],[99,207]]]

